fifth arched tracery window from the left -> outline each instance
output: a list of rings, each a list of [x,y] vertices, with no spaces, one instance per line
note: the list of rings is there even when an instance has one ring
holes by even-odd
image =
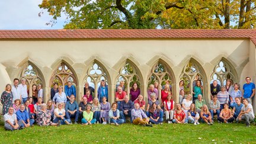
[[[148,77],[148,86],[154,84],[156,81],[158,82],[158,85],[160,85],[160,87],[158,87],[158,95],[161,94],[161,87],[163,88],[167,81],[170,85],[173,82],[171,69],[169,69],[169,66],[164,62],[158,61],[153,66]]]

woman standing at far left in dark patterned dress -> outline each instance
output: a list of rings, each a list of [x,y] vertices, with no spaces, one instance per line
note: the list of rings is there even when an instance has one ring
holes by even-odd
[[[2,95],[1,95],[1,103],[3,105],[3,108],[2,108],[3,115],[8,113],[9,107],[11,107],[12,105],[13,95],[12,95],[11,88],[12,88],[11,85],[7,84],[5,86],[5,91],[2,92]]]

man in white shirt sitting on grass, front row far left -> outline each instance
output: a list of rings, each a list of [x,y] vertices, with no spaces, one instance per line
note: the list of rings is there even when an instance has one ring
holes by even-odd
[[[4,128],[6,130],[18,130],[21,127],[21,124],[23,124],[22,120],[17,120],[17,116],[14,113],[14,108],[9,107],[8,113],[4,115]],[[22,129],[22,128],[21,128]]]

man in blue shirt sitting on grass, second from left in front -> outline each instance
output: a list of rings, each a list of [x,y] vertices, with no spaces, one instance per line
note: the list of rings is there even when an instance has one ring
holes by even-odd
[[[25,110],[25,105],[20,105],[20,110],[16,112],[17,120],[22,120],[21,127],[30,127],[34,123],[34,119],[29,119],[28,112]]]

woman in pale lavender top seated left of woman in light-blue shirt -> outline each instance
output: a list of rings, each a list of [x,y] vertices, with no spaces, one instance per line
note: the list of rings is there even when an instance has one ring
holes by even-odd
[[[100,111],[100,119],[103,120],[103,124],[107,124],[108,111],[110,111],[110,103],[107,102],[107,97],[103,97]]]

